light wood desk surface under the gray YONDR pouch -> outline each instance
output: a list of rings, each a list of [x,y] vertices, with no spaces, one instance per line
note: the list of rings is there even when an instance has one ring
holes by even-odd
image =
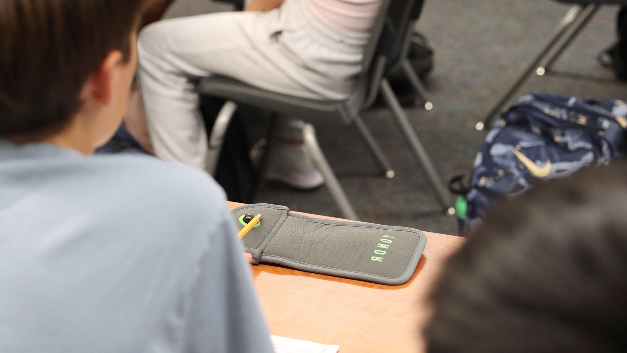
[[[229,202],[231,209],[239,205]],[[423,351],[420,330],[428,317],[423,301],[442,261],[463,242],[425,233],[427,245],[416,272],[400,286],[251,266],[271,334],[339,344],[340,353]]]

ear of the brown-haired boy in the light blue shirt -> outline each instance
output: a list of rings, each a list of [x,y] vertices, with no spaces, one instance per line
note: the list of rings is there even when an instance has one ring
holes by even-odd
[[[83,86],[83,99],[96,100],[100,104],[107,105],[113,98],[113,80],[116,69],[123,61],[122,52],[112,50],[100,63],[100,67],[90,75]]]

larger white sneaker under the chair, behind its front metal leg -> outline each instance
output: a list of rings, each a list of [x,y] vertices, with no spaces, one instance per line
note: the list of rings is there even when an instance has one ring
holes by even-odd
[[[305,150],[304,144],[277,141],[268,156],[266,180],[280,182],[300,190],[312,190],[324,184],[324,176]]]

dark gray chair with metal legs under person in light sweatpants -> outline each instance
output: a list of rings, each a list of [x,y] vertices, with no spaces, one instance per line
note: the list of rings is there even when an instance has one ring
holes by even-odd
[[[413,0],[404,0],[406,3],[414,3]],[[381,151],[381,148],[376,143],[366,124],[362,120],[360,113],[374,101],[379,91],[379,86],[384,89],[384,97],[389,102],[393,102],[396,105],[391,104],[397,117],[399,124],[403,128],[403,132],[409,139],[410,143],[415,147],[416,155],[419,160],[425,165],[429,181],[436,188],[438,200],[440,200],[443,206],[446,206],[446,211],[451,213],[451,207],[449,205],[448,193],[441,180],[435,173],[435,168],[429,161],[428,156],[424,152],[415,132],[411,129],[411,125],[408,122],[407,117],[404,115],[403,109],[401,109],[398,99],[391,91],[389,84],[386,80],[382,79],[386,69],[386,55],[389,53],[389,45],[386,43],[389,40],[389,35],[384,36],[384,28],[388,27],[388,23],[394,23],[396,18],[391,17],[390,9],[398,6],[397,1],[394,1],[394,6],[390,6],[391,0],[384,1],[381,8],[381,13],[377,16],[376,23],[371,30],[371,38],[367,43],[366,50],[364,51],[364,59],[362,62],[362,73],[357,80],[354,91],[350,94],[347,100],[333,101],[333,100],[312,100],[303,99],[299,97],[293,97],[291,95],[277,94],[267,90],[258,89],[251,85],[243,84],[237,80],[228,79],[224,77],[208,77],[202,79],[198,84],[198,90],[201,94],[212,95],[214,97],[220,97],[227,99],[221,112],[218,114],[213,129],[209,134],[209,158],[208,158],[208,170],[214,171],[214,168],[218,161],[219,151],[223,143],[223,136],[228,127],[231,117],[237,109],[237,104],[247,104],[250,106],[260,107],[269,111],[283,114],[285,116],[297,116],[307,122],[303,131],[303,140],[305,141],[305,148],[312,156],[314,163],[320,169],[320,172],[325,178],[325,184],[329,188],[332,197],[336,204],[339,206],[344,217],[348,219],[357,219],[357,214],[350,204],[348,198],[345,195],[334,171],[330,167],[327,159],[322,153],[322,149],[318,144],[315,136],[315,129],[312,124],[317,125],[336,125],[337,124],[354,124],[359,130],[364,142],[369,147],[372,156],[376,159],[377,163],[381,167],[382,173],[387,178],[394,177],[394,171],[391,168],[389,161]],[[399,1],[400,3],[400,1]],[[386,93],[386,90],[389,92]],[[392,99],[394,97],[394,99]],[[400,118],[399,118],[400,116]]]

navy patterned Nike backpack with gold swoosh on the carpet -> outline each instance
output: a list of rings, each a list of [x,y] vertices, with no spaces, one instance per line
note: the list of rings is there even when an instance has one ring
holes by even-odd
[[[488,133],[468,186],[452,185],[460,178],[451,182],[451,190],[462,194],[460,232],[473,229],[507,195],[623,156],[626,128],[627,104],[622,100],[525,95]]]

